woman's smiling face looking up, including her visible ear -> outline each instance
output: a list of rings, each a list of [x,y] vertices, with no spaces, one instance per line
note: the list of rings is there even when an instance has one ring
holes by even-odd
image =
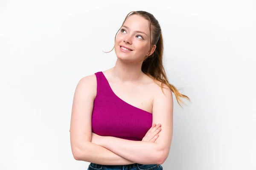
[[[148,20],[139,15],[129,16],[116,35],[115,52],[117,58],[130,62],[140,62],[146,55],[151,55],[155,45],[150,51],[149,32]]]

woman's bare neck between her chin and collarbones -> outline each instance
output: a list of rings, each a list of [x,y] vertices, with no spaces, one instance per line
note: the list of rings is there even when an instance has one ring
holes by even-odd
[[[116,60],[116,65],[112,68],[113,77],[121,81],[137,81],[143,77],[141,71],[142,62],[129,63],[120,59]]]

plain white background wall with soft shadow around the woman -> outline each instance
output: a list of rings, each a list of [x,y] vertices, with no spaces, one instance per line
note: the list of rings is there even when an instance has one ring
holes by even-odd
[[[0,170],[85,170],[70,148],[82,77],[114,66],[126,14],[160,23],[174,100],[164,170],[256,170],[255,0],[1,0]]]

